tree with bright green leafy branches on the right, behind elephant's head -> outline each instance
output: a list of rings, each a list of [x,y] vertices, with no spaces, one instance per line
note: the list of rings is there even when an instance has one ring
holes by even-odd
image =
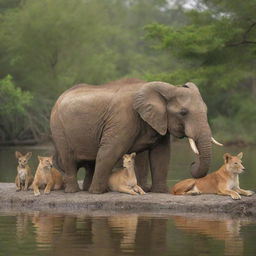
[[[186,11],[182,27],[146,27],[154,48],[177,60],[174,70],[149,79],[194,81],[207,102],[213,129],[223,138],[231,133],[228,140],[255,143],[256,1],[196,3]]]

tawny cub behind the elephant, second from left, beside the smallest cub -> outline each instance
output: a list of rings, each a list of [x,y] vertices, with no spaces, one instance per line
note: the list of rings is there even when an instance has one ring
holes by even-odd
[[[52,157],[38,156],[39,165],[36,170],[33,189],[34,195],[39,196],[39,188],[45,187],[44,193],[49,194],[51,190],[63,188],[63,178],[61,173],[52,166]]]

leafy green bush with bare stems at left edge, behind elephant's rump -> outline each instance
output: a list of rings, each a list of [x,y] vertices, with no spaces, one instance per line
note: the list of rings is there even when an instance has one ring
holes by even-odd
[[[0,143],[35,144],[49,136],[50,104],[15,85],[10,75],[0,80]]]

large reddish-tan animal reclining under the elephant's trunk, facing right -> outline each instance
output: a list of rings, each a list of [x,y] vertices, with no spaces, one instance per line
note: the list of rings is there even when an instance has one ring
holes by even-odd
[[[254,192],[239,187],[238,175],[244,172],[242,165],[243,153],[237,156],[224,154],[224,165],[217,171],[200,179],[186,179],[174,185],[174,195],[219,194],[228,195],[233,199],[241,199],[240,195],[251,196]]]

